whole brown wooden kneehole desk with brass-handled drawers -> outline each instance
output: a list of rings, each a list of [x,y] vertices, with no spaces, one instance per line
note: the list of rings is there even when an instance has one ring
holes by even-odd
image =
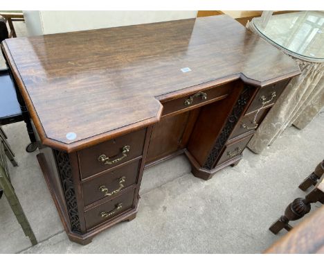
[[[72,241],[132,220],[147,166],[185,153],[208,180],[242,159],[294,60],[220,15],[5,40]],[[163,176],[161,176],[163,178]]]

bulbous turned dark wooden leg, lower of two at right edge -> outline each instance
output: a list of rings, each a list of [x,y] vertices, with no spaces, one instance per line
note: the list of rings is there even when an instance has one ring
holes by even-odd
[[[324,192],[322,187],[316,185],[316,187],[309,192],[305,198],[296,198],[292,203],[290,203],[285,210],[285,215],[282,215],[276,222],[274,222],[269,230],[273,232],[273,234],[278,234],[278,232],[283,228],[290,231],[293,227],[289,225],[289,221],[298,220],[305,214],[308,214],[311,210],[311,203],[316,203],[318,201],[324,203]]]

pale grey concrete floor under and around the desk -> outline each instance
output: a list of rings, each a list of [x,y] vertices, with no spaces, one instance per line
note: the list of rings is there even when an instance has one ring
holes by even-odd
[[[175,157],[145,171],[136,219],[80,246],[64,232],[37,151],[24,150],[24,123],[3,128],[19,162],[10,165],[12,185],[39,243],[31,247],[3,197],[0,253],[262,253],[285,234],[271,234],[269,225],[291,200],[305,196],[298,184],[323,160],[324,150],[321,112],[304,130],[287,128],[261,155],[245,150],[240,164],[208,181],[192,176],[186,157]]]

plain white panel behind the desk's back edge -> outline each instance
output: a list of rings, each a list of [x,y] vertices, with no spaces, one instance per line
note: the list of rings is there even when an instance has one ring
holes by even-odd
[[[197,11],[24,11],[28,35],[163,22],[196,15]]]

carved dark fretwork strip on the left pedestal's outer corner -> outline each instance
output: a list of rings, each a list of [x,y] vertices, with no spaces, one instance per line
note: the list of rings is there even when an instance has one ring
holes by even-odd
[[[69,155],[62,151],[54,151],[57,168],[60,173],[61,184],[66,200],[66,207],[69,212],[71,230],[73,232],[81,232],[80,219],[78,215],[78,203],[75,198],[75,190],[73,186],[72,169]]]

